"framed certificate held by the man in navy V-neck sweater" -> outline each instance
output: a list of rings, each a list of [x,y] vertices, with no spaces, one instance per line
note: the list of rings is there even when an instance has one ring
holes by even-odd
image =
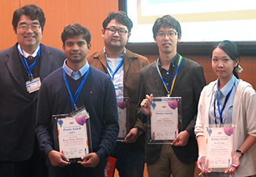
[[[80,161],[81,157],[92,152],[90,118],[81,120],[80,117],[72,117],[70,114],[52,117],[54,148],[58,152],[63,153],[70,162]]]

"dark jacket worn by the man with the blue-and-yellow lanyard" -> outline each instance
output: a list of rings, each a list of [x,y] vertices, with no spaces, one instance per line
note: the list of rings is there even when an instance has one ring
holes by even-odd
[[[173,72],[174,73],[174,72]],[[173,76],[171,77],[173,78]],[[194,127],[198,109],[198,99],[202,88],[206,85],[206,79],[203,75],[202,66],[195,61],[183,58],[180,70],[176,76],[176,82],[173,86],[171,97],[181,97],[182,115],[179,115],[179,131],[187,130],[190,137],[187,146],[173,146],[176,157],[184,163],[191,163],[198,158],[198,146],[195,139]],[[145,95],[153,94],[154,97],[165,97],[167,92],[161,82],[160,76],[155,68],[155,62],[143,68],[139,75],[139,102],[137,106],[137,116],[143,122],[150,120],[143,115],[140,103]],[[150,124],[149,122],[147,122]],[[150,130],[147,130],[147,141],[150,138]],[[161,151],[161,145],[149,145],[146,142],[146,162],[153,164],[158,159]]]

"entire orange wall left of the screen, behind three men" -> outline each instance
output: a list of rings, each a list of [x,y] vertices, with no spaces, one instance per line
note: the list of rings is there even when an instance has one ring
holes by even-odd
[[[12,6],[9,6],[9,4],[12,4]],[[63,28],[68,24],[79,23],[91,31],[91,53],[102,49],[102,21],[110,11],[118,10],[117,0],[2,0],[0,2],[0,20],[2,22],[0,27],[0,50],[13,46],[16,42],[11,24],[13,12],[20,6],[28,4],[39,6],[45,13],[46,25],[42,39],[44,44],[62,50],[61,32]]]

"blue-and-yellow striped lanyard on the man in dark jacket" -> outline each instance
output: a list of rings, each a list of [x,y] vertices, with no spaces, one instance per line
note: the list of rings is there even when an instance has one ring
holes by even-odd
[[[178,62],[178,65],[177,65],[177,68],[176,68],[176,72],[173,76],[173,79],[172,79],[172,83],[171,83],[171,87],[168,87],[167,83],[165,83],[165,80],[163,79],[163,77],[161,76],[161,72],[160,72],[160,69],[158,67],[158,61],[159,61],[159,58],[158,60],[155,62],[155,68],[157,68],[157,72],[158,72],[158,75],[160,76],[161,78],[161,82],[164,84],[165,86],[165,90],[167,91],[168,93],[168,97],[172,94],[173,92],[173,86],[174,86],[174,83],[175,83],[175,80],[176,80],[176,76],[177,76],[177,73],[180,69],[180,64],[181,64],[181,61],[182,61],[183,57],[181,57],[180,55],[180,58],[179,58],[179,62]]]

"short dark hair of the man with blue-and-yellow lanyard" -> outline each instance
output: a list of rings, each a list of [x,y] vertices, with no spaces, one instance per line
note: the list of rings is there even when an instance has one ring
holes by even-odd
[[[153,26],[154,39],[157,36],[157,32],[158,32],[159,28],[161,28],[161,27],[163,27],[163,28],[169,27],[169,28],[176,29],[176,31],[178,32],[178,38],[180,38],[180,36],[181,36],[180,23],[174,17],[172,17],[170,15],[165,15],[164,17],[158,18],[154,22],[154,26]]]

